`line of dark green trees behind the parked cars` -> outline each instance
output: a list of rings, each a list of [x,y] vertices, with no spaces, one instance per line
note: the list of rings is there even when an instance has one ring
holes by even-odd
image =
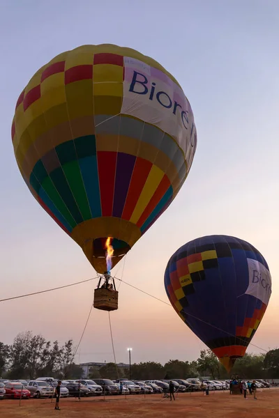
[[[0,377],[10,379],[33,379],[39,376],[52,376],[61,379],[82,377],[82,368],[73,362],[75,348],[73,340],[59,345],[58,341],[47,341],[32,332],[17,334],[10,345],[0,342]],[[100,369],[91,367],[87,378],[129,378],[133,380],[186,379],[207,377],[227,379],[233,374],[243,379],[279,378],[279,348],[266,354],[246,354],[236,359],[230,375],[220,364],[211,350],[201,350],[199,358],[193,362],[169,360],[159,362],[140,362],[132,364],[131,369],[107,363]]]

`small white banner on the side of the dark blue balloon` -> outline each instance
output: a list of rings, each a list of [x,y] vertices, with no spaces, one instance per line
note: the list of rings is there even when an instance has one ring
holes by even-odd
[[[264,304],[269,303],[271,297],[271,274],[262,263],[252,258],[247,258],[249,270],[249,286],[246,290],[247,295],[257,297]]]

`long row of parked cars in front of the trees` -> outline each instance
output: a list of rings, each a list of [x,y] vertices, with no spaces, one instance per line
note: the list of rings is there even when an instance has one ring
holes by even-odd
[[[170,380],[62,380],[60,394],[66,396],[101,396],[118,394],[161,394],[169,392]],[[172,379],[176,392],[193,392],[208,386],[209,390],[227,390],[230,380]],[[36,380],[0,380],[0,399],[52,397],[58,381],[54,378]],[[256,380],[259,388],[270,387],[265,380]]]

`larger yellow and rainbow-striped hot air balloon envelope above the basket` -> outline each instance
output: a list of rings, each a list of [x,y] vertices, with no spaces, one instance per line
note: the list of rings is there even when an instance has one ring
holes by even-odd
[[[190,103],[174,77],[133,49],[63,52],[17,100],[15,157],[38,203],[105,272],[167,209],[195,155]]]

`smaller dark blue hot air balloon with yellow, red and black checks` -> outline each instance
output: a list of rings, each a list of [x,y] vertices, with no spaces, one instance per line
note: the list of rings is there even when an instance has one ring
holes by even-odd
[[[248,242],[211,235],[174,253],[165,270],[165,290],[190,330],[230,371],[264,316],[271,274],[262,254]]]

